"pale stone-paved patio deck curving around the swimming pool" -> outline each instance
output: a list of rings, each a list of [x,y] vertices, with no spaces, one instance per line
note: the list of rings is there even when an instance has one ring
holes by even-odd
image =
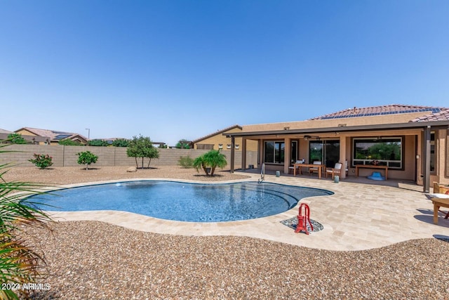
[[[240,173],[240,172],[236,172]],[[257,181],[260,170],[241,172]],[[157,178],[155,178],[157,179]],[[267,172],[265,181],[287,185],[332,190],[330,196],[304,198],[309,204],[311,219],[324,228],[317,233],[295,233],[281,221],[297,215],[297,207],[282,214],[246,221],[222,223],[193,223],[166,221],[123,211],[80,211],[52,213],[55,220],[97,220],[126,228],[173,235],[237,235],[257,237],[298,246],[330,249],[361,250],[387,246],[418,238],[449,238],[449,220],[440,215],[433,223],[433,205],[420,186],[413,183],[370,181],[348,178],[334,183],[330,178]],[[300,202],[300,203],[301,203]]]

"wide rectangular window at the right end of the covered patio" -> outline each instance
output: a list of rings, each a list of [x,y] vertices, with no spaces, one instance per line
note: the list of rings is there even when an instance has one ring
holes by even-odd
[[[391,169],[402,169],[402,138],[354,138],[353,164],[379,164]]]

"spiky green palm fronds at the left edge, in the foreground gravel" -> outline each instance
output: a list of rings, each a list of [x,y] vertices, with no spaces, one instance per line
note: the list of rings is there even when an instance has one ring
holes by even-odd
[[[0,148],[5,147],[0,144]],[[6,152],[0,150],[0,154]],[[4,180],[11,164],[0,164],[0,299],[19,299],[19,295],[29,297],[28,289],[21,289],[24,283],[35,282],[41,275],[45,260],[27,242],[18,237],[22,225],[46,226],[50,220],[36,203],[26,197],[39,193],[42,187],[36,183],[7,182]]]

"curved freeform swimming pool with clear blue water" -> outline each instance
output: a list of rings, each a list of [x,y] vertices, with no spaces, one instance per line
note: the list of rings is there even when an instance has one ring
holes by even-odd
[[[118,210],[175,221],[222,222],[280,214],[304,197],[332,194],[265,182],[130,181],[67,188],[34,197],[43,204],[39,208],[47,211]]]

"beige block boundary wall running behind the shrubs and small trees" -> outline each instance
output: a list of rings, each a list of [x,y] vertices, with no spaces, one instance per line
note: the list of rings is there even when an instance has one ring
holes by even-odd
[[[11,162],[18,164],[18,167],[35,167],[34,164],[28,162],[32,159],[34,153],[48,154],[53,157],[52,167],[76,167],[79,166],[76,153],[83,151],[91,151],[98,155],[98,162],[95,167],[102,166],[134,166],[134,157],[126,155],[126,148],[121,147],[91,147],[91,146],[65,146],[65,145],[8,145],[2,150],[14,151],[4,152],[0,154],[0,163]],[[152,159],[150,167],[157,166],[175,166],[181,156],[190,156],[196,158],[208,150],[194,150],[194,149],[159,149],[159,159]],[[228,162],[227,168],[230,166],[230,150],[223,150],[222,153],[226,155]],[[235,152],[235,165],[241,164],[241,151]],[[145,159],[144,164],[147,164]],[[142,159],[138,159],[140,164]],[[246,164],[257,164],[257,152],[250,151],[246,154]]]

